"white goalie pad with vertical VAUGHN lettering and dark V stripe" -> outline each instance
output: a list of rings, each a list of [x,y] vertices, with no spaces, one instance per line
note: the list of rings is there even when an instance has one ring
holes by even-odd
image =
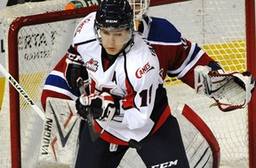
[[[74,101],[47,98],[38,164],[74,164],[80,121]]]

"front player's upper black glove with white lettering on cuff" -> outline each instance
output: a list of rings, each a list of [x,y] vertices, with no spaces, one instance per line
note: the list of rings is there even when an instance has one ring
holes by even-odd
[[[84,81],[84,88],[88,87],[88,73],[84,66],[84,61],[79,53],[72,47],[68,49],[68,58],[66,59],[67,67],[65,78],[68,87],[78,90],[77,80],[81,77]]]

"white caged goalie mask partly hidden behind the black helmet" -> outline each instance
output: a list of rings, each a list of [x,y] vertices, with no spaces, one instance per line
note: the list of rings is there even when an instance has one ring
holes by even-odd
[[[148,14],[150,0],[129,0],[129,4],[133,9],[134,19],[141,20]]]

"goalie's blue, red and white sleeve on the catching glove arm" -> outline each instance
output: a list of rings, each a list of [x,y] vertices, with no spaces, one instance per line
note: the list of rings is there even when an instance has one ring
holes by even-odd
[[[196,65],[215,62],[196,42],[183,38],[177,28],[166,19],[152,18],[148,41],[156,50],[163,79],[168,74],[194,88],[193,72]]]

